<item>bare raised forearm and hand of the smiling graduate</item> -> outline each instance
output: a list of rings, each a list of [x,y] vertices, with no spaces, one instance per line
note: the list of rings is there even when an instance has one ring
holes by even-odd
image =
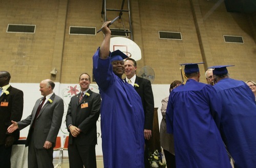
[[[101,43],[100,50],[99,50],[99,57],[101,59],[106,59],[110,55],[110,38],[111,38],[111,31],[108,27],[111,21],[106,21],[103,23],[101,29],[104,33],[104,39]]]

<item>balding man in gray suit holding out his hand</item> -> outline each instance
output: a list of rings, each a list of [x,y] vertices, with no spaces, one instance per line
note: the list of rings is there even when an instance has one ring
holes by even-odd
[[[64,112],[63,100],[53,92],[54,82],[46,79],[40,82],[43,98],[36,101],[32,113],[20,122],[12,121],[8,133],[22,130],[30,125],[26,146],[29,146],[28,166],[54,167],[53,148],[61,126]]]

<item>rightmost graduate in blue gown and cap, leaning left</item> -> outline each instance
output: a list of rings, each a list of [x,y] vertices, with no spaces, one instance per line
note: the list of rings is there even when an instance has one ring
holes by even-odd
[[[256,167],[256,105],[243,81],[229,78],[227,66],[214,68],[214,85],[222,106],[220,130],[236,168]]]

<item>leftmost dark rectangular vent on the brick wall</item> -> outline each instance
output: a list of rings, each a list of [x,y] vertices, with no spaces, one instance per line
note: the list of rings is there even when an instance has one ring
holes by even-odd
[[[7,33],[35,33],[35,25],[8,24]]]

